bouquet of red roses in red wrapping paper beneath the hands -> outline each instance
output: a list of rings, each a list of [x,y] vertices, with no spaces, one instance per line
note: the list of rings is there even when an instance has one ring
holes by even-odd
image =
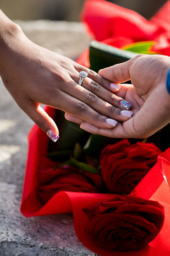
[[[96,4],[101,5],[96,9]],[[108,6],[109,11],[102,12]],[[163,33],[158,26],[161,12],[152,18],[156,20],[153,25],[130,10],[125,12],[102,0],[89,0],[85,8],[88,11],[84,9],[83,17],[87,23],[91,12],[93,21],[99,14],[103,27],[100,27],[102,38],[96,36],[98,40],[106,39],[112,27],[113,35],[117,36],[116,17],[117,21],[122,19],[133,25],[135,42],[149,37],[152,40]],[[145,27],[136,23],[137,18]],[[110,20],[112,26],[108,26]],[[92,26],[89,28],[92,30]],[[121,33],[125,33],[121,28]],[[130,36],[134,36],[133,31]],[[85,61],[84,56],[79,61]],[[110,139],[83,131],[78,124],[65,120],[60,110],[50,107],[45,110],[57,120],[60,139],[53,143],[33,126],[28,137],[21,212],[26,217],[73,212],[78,238],[102,256],[169,255],[169,127],[147,141]]]

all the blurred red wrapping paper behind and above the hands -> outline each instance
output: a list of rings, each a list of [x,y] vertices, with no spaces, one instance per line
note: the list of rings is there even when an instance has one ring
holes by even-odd
[[[81,12],[87,33],[97,41],[121,48],[140,41],[155,41],[151,51],[170,56],[170,0],[150,19],[104,0],[87,0]],[[90,67],[89,51],[78,63]]]

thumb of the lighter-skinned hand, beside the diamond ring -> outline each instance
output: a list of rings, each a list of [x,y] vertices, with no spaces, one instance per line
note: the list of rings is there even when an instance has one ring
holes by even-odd
[[[128,60],[123,63],[116,64],[114,66],[103,68],[99,70],[99,75],[114,82],[115,84],[120,84],[130,80],[130,66],[132,61]]]

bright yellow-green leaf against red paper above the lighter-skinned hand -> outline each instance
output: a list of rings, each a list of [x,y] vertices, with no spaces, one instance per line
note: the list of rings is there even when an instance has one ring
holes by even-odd
[[[127,45],[123,46],[121,49],[123,49],[125,51],[130,51],[130,52],[142,53],[142,52],[150,51],[154,44],[155,44],[154,41],[136,42],[133,44],[127,44]]]

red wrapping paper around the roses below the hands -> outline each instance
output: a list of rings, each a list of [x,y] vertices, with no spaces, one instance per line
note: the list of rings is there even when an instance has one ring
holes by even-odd
[[[53,118],[55,109],[46,107],[46,112]],[[85,233],[88,218],[82,208],[92,206],[115,196],[115,194],[59,192],[45,205],[36,199],[37,173],[41,166],[52,167],[54,162],[46,158],[48,136],[36,125],[29,136],[29,150],[26,164],[21,212],[26,217],[73,212],[74,227],[79,240],[90,250],[101,256],[155,256],[170,255],[170,188],[164,179],[170,181],[170,148],[158,157],[158,162],[135,188],[135,195],[158,201],[165,208],[165,223],[159,235],[144,249],[136,252],[105,250],[93,244]],[[133,192],[132,192],[133,194]]]

